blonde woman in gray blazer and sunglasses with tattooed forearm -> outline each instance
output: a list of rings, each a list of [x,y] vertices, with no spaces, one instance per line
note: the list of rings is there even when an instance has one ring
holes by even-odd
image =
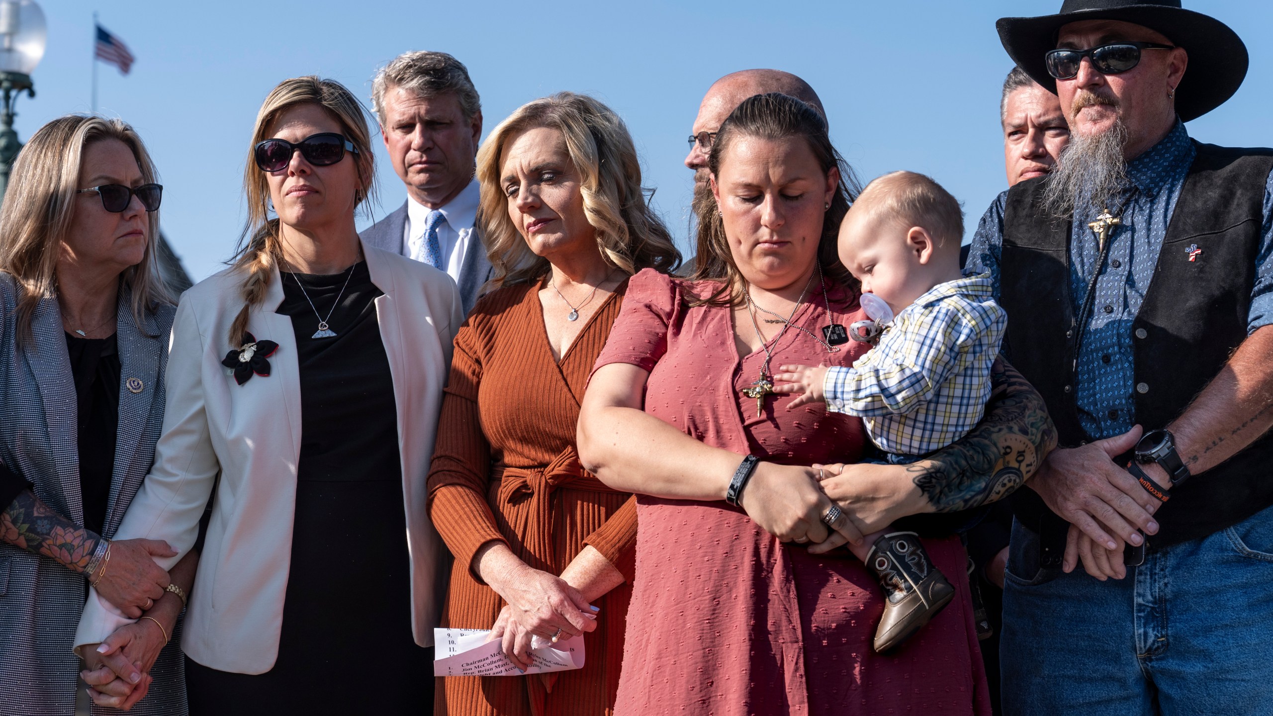
[[[129,125],[70,115],[31,138],[0,209],[5,713],[71,713],[88,697],[71,651],[88,585],[140,617],[129,631],[149,640],[130,654],[140,670],[121,665],[136,682],[97,696],[122,705],[149,691],[137,712],[186,713],[181,652],[168,637],[181,631],[197,557],[174,566],[163,541],[117,534],[164,417],[174,308],[155,261],[160,196]],[[154,557],[168,558],[164,567]],[[112,680],[88,675],[94,692]]]

